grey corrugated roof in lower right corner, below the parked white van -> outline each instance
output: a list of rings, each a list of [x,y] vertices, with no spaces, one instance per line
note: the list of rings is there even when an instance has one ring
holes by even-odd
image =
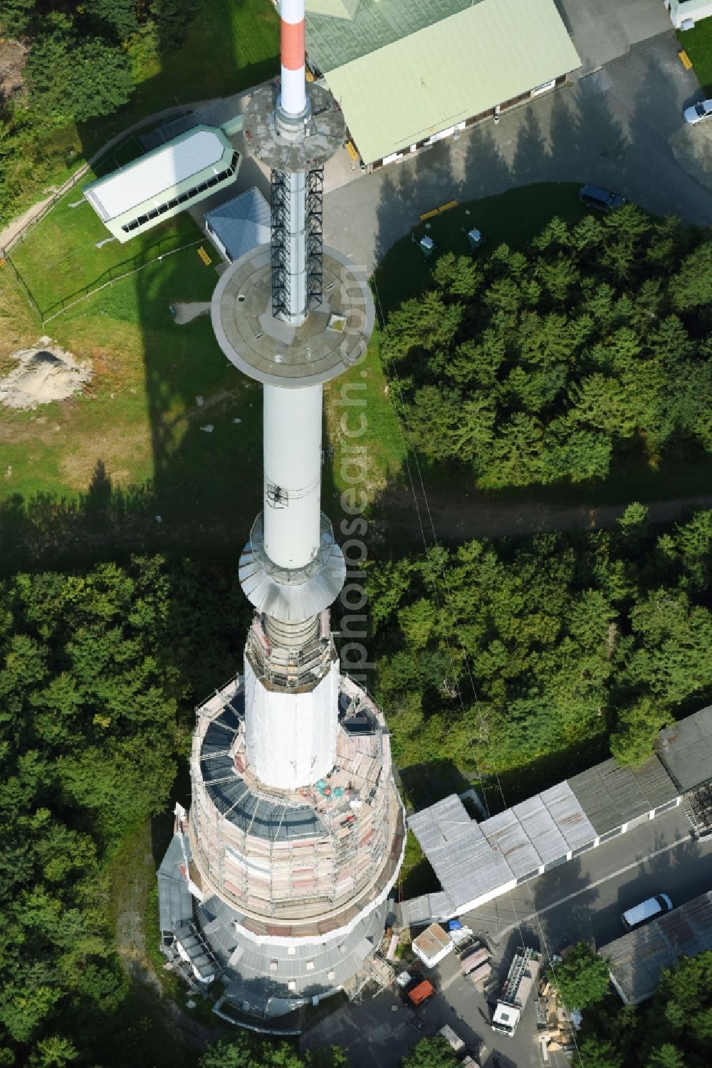
[[[660,973],[682,954],[712,949],[712,891],[666,912],[645,927],[602,945],[616,984],[631,1005],[651,998]]]

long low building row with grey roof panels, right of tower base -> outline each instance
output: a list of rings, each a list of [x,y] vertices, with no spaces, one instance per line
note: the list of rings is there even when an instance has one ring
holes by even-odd
[[[402,922],[468,912],[681,803],[698,837],[712,833],[712,706],[662,731],[655,749],[637,768],[603,760],[481,822],[456,795],[409,816],[442,889],[404,901]]]

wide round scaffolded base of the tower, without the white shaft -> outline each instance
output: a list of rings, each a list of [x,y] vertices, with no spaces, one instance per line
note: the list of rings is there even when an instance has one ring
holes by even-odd
[[[405,848],[390,737],[368,695],[337,675],[334,763],[266,789],[247,754],[244,676],[197,709],[190,816],[177,806],[159,870],[162,948],[236,1021],[347,992],[383,937]],[[285,748],[288,739],[285,738]]]

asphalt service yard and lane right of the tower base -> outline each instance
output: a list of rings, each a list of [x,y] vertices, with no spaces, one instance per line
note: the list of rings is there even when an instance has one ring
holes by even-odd
[[[463,920],[474,930],[488,931],[497,944],[493,962],[504,977],[520,941],[544,953],[555,953],[580,939],[598,947],[623,932],[621,912],[651,894],[663,891],[677,906],[711,888],[712,842],[693,842],[684,812],[675,808]],[[396,1068],[422,1035],[434,1034],[449,1023],[475,1051],[485,1045],[484,1068],[494,1068],[495,1055],[502,1068],[541,1065],[532,1005],[513,1038],[496,1035],[489,1027],[490,1007],[460,975],[454,954],[433,974],[438,994],[417,1011],[391,991],[382,991],[321,1020],[304,1036],[304,1047],[336,1042],[349,1051],[353,1065]],[[569,1062],[552,1054],[550,1064],[559,1068]]]

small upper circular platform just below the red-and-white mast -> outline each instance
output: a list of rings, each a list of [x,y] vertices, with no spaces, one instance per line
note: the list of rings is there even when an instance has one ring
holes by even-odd
[[[274,171],[310,171],[323,167],[346,137],[344,113],[328,89],[308,83],[310,115],[297,139],[280,135],[274,111],[279,87],[263,85],[250,98],[242,127],[251,155]],[[297,131],[295,130],[295,134]]]

